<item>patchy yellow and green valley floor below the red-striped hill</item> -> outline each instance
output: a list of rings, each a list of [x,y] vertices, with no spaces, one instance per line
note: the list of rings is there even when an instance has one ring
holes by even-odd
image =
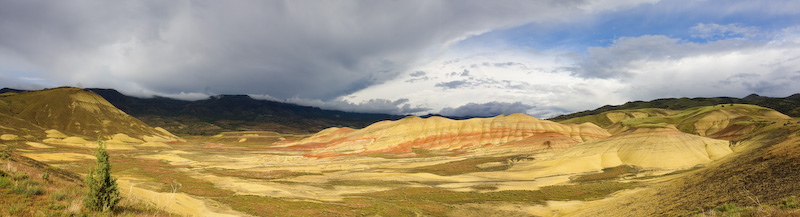
[[[563,216],[682,174],[626,166],[548,176],[531,172],[533,162],[553,152],[419,150],[415,157],[316,158],[267,145],[292,137],[298,136],[184,137],[168,147],[112,150],[112,169],[124,197],[192,216]],[[85,148],[38,143],[16,148],[80,174],[94,162]]]

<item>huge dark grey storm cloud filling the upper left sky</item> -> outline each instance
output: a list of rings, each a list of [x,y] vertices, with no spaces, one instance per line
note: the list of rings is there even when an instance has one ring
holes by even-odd
[[[327,100],[394,78],[427,50],[587,7],[563,0],[11,0],[0,5],[0,62],[22,60],[15,62],[56,85]]]

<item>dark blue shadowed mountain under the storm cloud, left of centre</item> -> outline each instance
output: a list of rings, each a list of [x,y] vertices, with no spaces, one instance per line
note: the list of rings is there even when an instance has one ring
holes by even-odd
[[[314,133],[329,127],[363,128],[403,116],[323,110],[247,95],[220,95],[183,101],[165,97],[136,98],[113,89],[89,89],[117,108],[152,126],[178,134],[209,135],[224,131],[263,130]]]

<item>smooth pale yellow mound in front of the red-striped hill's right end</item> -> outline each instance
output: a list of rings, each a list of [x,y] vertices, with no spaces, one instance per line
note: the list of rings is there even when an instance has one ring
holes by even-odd
[[[514,169],[531,170],[536,176],[597,171],[620,165],[645,170],[687,169],[732,153],[729,144],[672,127],[641,127],[580,144],[550,159]]]

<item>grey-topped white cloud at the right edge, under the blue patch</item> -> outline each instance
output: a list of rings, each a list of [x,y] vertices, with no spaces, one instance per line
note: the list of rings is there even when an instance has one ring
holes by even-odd
[[[575,71],[580,76],[623,81],[628,85],[619,91],[638,100],[800,92],[800,86],[791,85],[800,82],[800,43],[774,37],[772,41],[708,43],[666,36],[622,38],[612,46],[590,49]]]

